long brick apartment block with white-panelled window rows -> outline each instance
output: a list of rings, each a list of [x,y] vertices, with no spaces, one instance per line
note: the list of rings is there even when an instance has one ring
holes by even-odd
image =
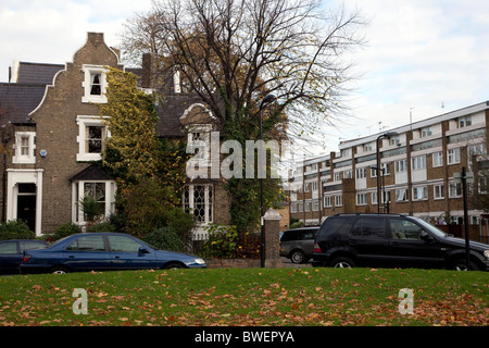
[[[484,211],[489,207],[476,204],[474,197],[480,196],[474,192],[488,194],[488,130],[485,101],[342,141],[339,152],[304,160],[296,169],[290,216],[317,225],[337,213],[391,212],[439,225],[462,224],[462,184],[456,176],[466,167],[474,173],[468,223],[487,224]]]

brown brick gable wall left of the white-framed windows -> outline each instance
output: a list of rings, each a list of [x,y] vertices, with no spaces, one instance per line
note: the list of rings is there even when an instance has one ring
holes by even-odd
[[[59,73],[54,86],[47,87],[43,102],[32,115],[36,123],[36,166],[45,170],[42,187],[42,233],[51,233],[72,221],[72,185],[70,178],[89,163],[76,161],[78,152],[78,115],[99,115],[95,104],[82,102],[84,96],[83,64],[109,65],[117,69],[116,54],[103,42],[103,34],[89,33],[86,45],[72,63]],[[40,150],[47,156],[41,158]]]

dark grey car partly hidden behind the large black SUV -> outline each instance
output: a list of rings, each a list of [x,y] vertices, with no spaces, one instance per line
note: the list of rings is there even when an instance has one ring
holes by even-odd
[[[289,258],[293,263],[311,260],[314,252],[314,236],[319,227],[301,227],[284,232],[280,238],[280,257]]]

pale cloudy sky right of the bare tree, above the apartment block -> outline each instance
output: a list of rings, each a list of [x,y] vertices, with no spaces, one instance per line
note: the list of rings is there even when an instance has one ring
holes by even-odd
[[[408,124],[410,111],[419,121],[489,99],[484,45],[489,22],[482,15],[489,3],[366,0],[359,5],[372,20],[366,46],[352,57],[363,73],[350,103],[361,125],[343,127],[338,138]]]

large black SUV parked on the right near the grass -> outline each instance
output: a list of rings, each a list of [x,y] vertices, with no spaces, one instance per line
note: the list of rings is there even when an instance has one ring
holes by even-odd
[[[471,270],[489,271],[489,245],[471,241]],[[398,214],[338,214],[316,234],[313,266],[466,270],[465,240]]]

